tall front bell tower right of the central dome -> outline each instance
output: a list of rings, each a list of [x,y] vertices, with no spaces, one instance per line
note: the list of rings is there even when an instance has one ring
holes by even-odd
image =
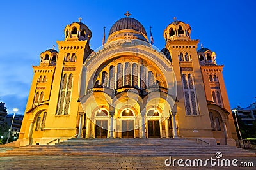
[[[177,80],[177,119],[182,120],[178,125],[179,133],[181,136],[192,133],[212,138],[204,82],[196,52],[198,40],[191,39],[189,24],[176,20],[176,17],[173,19],[163,36],[166,40],[164,52],[170,55]]]

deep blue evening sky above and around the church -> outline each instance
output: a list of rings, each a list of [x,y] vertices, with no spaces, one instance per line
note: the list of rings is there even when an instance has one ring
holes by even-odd
[[[129,11],[143,24],[154,45],[164,48],[163,30],[173,17],[191,26],[191,38],[217,54],[224,64],[230,106],[246,107],[256,99],[255,1],[3,1],[0,10],[0,101],[8,113],[24,113],[41,52],[64,39],[67,24],[82,22],[92,31],[90,45],[102,44],[103,27]],[[200,43],[198,48],[200,48]]]

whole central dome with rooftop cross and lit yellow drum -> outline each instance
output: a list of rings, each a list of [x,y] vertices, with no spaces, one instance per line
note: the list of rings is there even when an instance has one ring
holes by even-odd
[[[136,19],[129,17],[130,13],[125,13],[126,17],[116,21],[108,34],[107,43],[118,39],[140,39],[148,42],[147,32],[143,25]]]

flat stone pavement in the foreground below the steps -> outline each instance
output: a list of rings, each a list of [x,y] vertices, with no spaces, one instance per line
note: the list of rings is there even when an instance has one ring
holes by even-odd
[[[253,167],[175,167],[165,166],[166,156],[14,156],[0,157],[0,169],[253,169]],[[173,157],[173,159],[196,159]],[[207,159],[207,158],[205,158]],[[255,157],[237,158],[239,162],[253,162]]]

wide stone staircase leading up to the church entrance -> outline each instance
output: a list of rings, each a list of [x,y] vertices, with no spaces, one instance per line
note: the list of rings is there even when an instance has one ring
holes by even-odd
[[[184,138],[164,139],[84,139],[71,138],[56,145],[27,145],[0,153],[11,155],[147,155],[209,156],[221,152],[225,157],[255,157],[256,153],[227,145],[199,145]]]

